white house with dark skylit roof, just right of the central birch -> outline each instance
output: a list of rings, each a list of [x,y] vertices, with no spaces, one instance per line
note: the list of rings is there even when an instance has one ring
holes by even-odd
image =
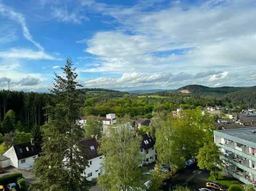
[[[149,133],[142,135],[140,153],[143,155],[143,163],[150,164],[156,161],[155,141]]]

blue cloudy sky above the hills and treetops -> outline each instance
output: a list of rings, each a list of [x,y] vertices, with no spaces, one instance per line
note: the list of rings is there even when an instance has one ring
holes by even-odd
[[[0,0],[0,89],[256,85],[256,0]]]

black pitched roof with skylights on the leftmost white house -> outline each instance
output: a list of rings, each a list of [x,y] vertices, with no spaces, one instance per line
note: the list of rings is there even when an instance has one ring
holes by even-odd
[[[41,146],[39,144],[31,145],[30,142],[13,145],[15,153],[19,159],[25,159],[37,155],[41,152]]]

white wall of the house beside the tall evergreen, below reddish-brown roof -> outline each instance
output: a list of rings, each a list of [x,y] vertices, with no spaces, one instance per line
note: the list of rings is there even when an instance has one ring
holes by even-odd
[[[99,157],[93,158],[91,160],[88,160],[88,162],[89,162],[88,164],[90,165],[90,161],[91,161],[91,165],[90,165],[90,167],[86,167],[84,173],[85,173],[86,177],[89,173],[92,173],[92,176],[87,177],[87,180],[91,181],[93,178],[99,177],[99,173],[100,173],[100,169],[101,169],[101,162],[103,161],[103,159],[104,159],[104,156],[99,156]]]

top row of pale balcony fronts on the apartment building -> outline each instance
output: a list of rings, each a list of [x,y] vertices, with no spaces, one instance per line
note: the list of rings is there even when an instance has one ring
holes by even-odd
[[[216,143],[217,146],[219,146],[225,150],[231,151],[232,153],[238,154],[241,157],[244,157],[246,159],[256,162],[256,155],[250,154],[248,152],[248,146],[243,147],[242,151],[239,151],[234,148],[233,144],[234,144],[234,142],[227,143],[227,144]]]

